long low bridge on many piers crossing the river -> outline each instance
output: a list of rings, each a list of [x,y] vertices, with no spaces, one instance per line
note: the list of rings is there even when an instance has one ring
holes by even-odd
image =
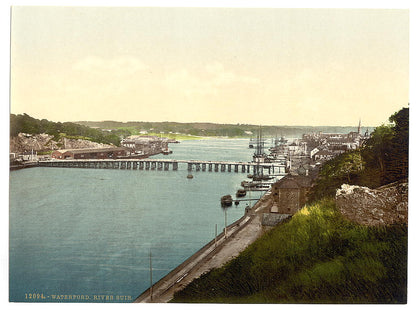
[[[62,159],[39,161],[40,167],[93,168],[93,169],[133,169],[133,170],[178,170],[179,164],[187,165],[188,171],[243,172],[284,175],[282,162],[255,163],[233,161],[204,161],[181,159]]]

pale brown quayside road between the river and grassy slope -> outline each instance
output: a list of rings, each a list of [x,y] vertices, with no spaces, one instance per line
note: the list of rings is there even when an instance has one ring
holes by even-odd
[[[226,232],[211,240],[198,252],[144,291],[135,303],[166,303],[175,292],[213,268],[219,268],[238,256],[248,245],[260,237],[265,228],[261,225],[262,213],[271,204],[270,191],[239,220],[227,226]]]

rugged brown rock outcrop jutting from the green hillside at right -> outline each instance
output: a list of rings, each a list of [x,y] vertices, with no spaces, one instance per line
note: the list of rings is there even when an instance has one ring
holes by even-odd
[[[396,182],[377,189],[343,184],[336,204],[346,218],[359,224],[407,224],[408,184]]]

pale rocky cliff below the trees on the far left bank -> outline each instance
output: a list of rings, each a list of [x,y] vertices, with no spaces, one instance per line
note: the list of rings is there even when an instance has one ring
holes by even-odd
[[[10,137],[10,152],[21,153],[27,151],[50,151],[58,149],[82,149],[82,148],[103,148],[113,145],[91,142],[82,139],[60,138],[52,140],[53,136],[45,133],[31,135],[19,133],[16,137]]]

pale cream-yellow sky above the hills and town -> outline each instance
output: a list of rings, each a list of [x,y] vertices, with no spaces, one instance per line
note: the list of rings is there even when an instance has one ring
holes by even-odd
[[[409,102],[405,9],[14,6],[10,112],[377,126]]]

